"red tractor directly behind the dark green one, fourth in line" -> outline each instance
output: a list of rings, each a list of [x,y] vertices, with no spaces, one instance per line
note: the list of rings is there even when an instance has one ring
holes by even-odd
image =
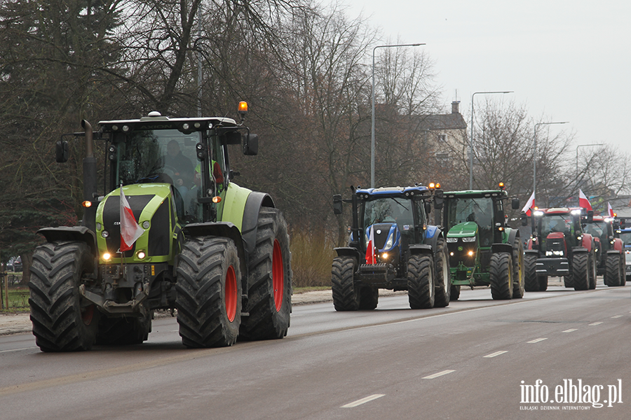
[[[563,276],[574,290],[596,288],[595,239],[584,232],[583,223],[593,213],[580,208],[558,207],[533,211],[532,237],[524,255],[527,291],[548,288],[548,276]],[[527,225],[525,214],[522,224]]]

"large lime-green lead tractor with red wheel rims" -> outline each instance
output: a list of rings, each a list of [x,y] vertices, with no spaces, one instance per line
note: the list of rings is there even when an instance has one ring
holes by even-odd
[[[292,269],[287,223],[266,193],[233,183],[228,146],[258,137],[231,118],[83,120],[83,220],[43,228],[29,283],[42,351],[140,344],[156,309],[177,309],[187,347],[287,335]],[[93,148],[105,151],[97,192]],[[57,162],[68,144],[57,142]]]

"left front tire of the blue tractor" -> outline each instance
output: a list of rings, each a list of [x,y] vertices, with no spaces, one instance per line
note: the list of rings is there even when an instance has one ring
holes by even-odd
[[[357,262],[353,257],[335,257],[331,268],[331,289],[336,311],[356,311],[360,304],[360,287],[355,286],[353,274]]]

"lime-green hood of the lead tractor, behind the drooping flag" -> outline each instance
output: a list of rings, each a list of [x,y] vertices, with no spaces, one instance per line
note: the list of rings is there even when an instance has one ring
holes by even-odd
[[[130,251],[121,247],[121,190],[116,188],[100,201],[96,214],[97,245],[101,263],[166,262],[173,260],[173,243],[180,231],[175,216],[172,190],[168,183],[140,183],[123,186],[123,193],[136,222],[145,230]],[[138,258],[144,251],[145,258]],[[111,258],[104,259],[109,253]],[[122,257],[122,258],[121,258]]]

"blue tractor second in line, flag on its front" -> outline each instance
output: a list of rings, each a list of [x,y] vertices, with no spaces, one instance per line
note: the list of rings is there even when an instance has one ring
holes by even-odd
[[[432,186],[432,184],[430,184]],[[333,197],[334,213],[351,202],[348,246],[335,248],[333,304],[337,311],[374,309],[379,289],[407,290],[412,309],[449,304],[449,255],[445,235],[429,225],[442,190],[426,186],[352,188],[350,200]]]

